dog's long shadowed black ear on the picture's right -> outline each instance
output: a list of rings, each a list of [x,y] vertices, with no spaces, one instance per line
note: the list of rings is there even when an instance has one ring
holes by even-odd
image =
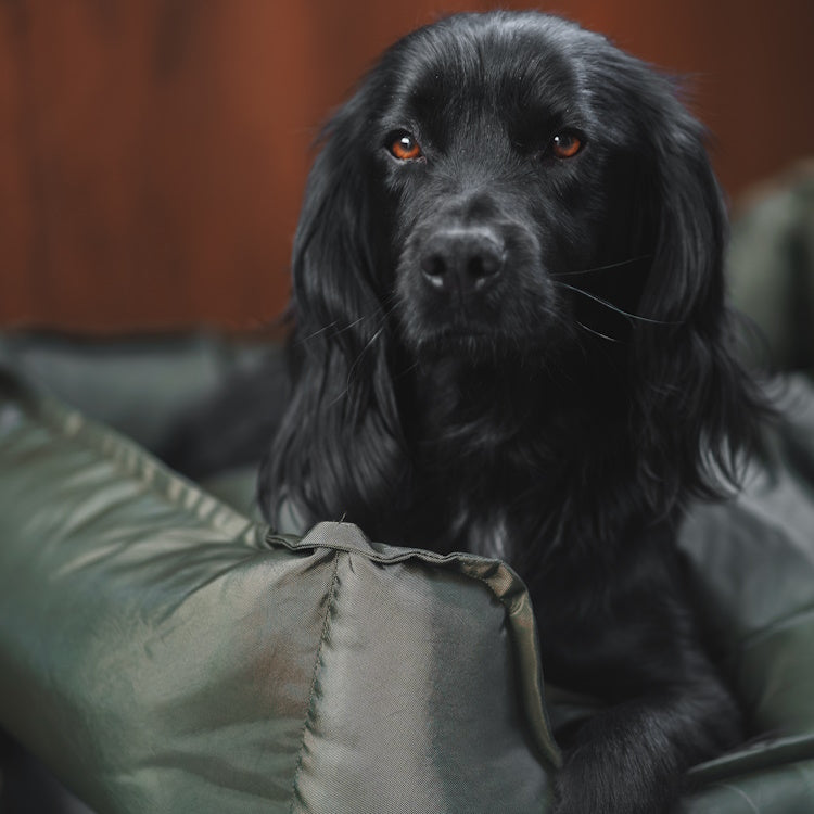
[[[727,218],[703,127],[654,78],[646,101],[649,154],[640,212],[652,263],[634,332],[639,443],[648,489],[663,506],[720,494],[740,454],[759,446],[758,389],[733,349],[725,303]],[[656,497],[658,496],[658,497]]]

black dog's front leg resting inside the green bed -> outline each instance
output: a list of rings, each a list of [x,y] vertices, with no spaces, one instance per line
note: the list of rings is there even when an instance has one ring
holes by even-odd
[[[557,733],[554,812],[672,814],[687,770],[738,742],[740,711],[701,647],[670,539],[627,540],[605,563],[563,558],[534,586],[547,681],[607,704]]]

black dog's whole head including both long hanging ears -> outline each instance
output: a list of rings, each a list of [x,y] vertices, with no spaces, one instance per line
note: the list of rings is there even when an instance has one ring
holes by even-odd
[[[653,471],[710,480],[701,442],[724,462],[746,396],[724,342],[726,221],[703,142],[672,79],[557,17],[463,14],[393,46],[325,129],[309,176],[278,480],[292,480],[291,451],[315,432],[295,424],[315,412],[323,454],[377,435],[360,493],[394,475],[396,358],[550,365],[596,347],[624,360]]]

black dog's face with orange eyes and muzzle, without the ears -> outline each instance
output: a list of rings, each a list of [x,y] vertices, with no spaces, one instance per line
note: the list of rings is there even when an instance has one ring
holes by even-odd
[[[556,18],[456,17],[369,78],[371,217],[389,237],[374,262],[415,351],[550,352],[624,332],[573,291],[593,282],[635,310],[652,251],[632,217],[643,112],[597,75],[612,51]]]

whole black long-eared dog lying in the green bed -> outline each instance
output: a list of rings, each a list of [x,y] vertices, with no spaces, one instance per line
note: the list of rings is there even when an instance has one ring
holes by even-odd
[[[674,543],[761,414],[703,139],[596,34],[454,16],[334,116],[296,233],[264,509],[517,569],[547,679],[608,702],[567,743],[558,814],[672,811],[740,737]]]

